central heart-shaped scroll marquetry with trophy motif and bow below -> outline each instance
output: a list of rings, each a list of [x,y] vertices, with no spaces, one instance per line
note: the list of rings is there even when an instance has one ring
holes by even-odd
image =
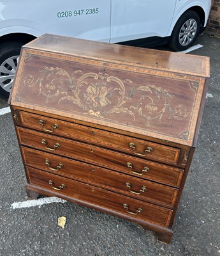
[[[61,97],[59,102],[70,100],[86,115],[107,118],[112,113],[128,113],[135,118],[133,112],[123,106],[126,103],[124,83],[105,72],[84,74],[71,92],[71,96]]]

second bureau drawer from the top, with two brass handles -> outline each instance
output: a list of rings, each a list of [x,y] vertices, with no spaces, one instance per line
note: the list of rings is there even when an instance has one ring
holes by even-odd
[[[143,179],[154,180],[176,187],[180,186],[183,171],[179,168],[20,127],[17,127],[17,134],[18,140],[22,145],[96,164]]]

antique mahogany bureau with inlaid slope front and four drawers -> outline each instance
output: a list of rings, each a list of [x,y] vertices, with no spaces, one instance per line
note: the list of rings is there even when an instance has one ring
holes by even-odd
[[[209,58],[43,35],[10,106],[31,198],[59,196],[170,243],[196,146]]]

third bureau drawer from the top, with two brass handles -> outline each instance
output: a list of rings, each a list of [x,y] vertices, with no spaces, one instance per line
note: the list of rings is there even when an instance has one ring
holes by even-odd
[[[140,200],[173,207],[179,189],[99,168],[91,164],[21,147],[25,164],[89,184],[117,190]]]

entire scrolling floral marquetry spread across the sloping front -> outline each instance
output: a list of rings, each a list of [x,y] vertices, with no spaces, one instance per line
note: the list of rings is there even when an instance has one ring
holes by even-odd
[[[187,109],[182,104],[174,108],[170,104],[174,96],[169,90],[154,84],[135,88],[131,79],[122,81],[118,77],[109,76],[105,69],[98,74],[83,74],[82,70],[75,70],[70,75],[62,68],[45,67],[40,73],[41,76],[37,79],[31,75],[26,76],[24,84],[34,87],[38,95],[44,95],[46,104],[50,102],[50,98],[57,97],[58,104],[70,101],[82,109],[85,115],[101,118],[108,118],[108,115],[114,113],[125,113],[135,120],[138,113],[145,118],[146,127],[155,119],[162,122],[164,115],[168,119],[187,116]]]

